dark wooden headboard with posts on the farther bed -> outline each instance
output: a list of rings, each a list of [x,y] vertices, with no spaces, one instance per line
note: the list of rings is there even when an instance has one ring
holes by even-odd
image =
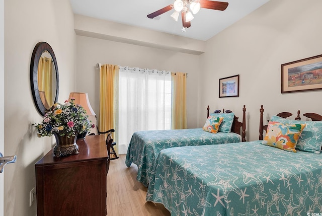
[[[215,110],[213,113],[220,113],[221,110]],[[222,110],[222,113],[232,113],[230,110]],[[209,105],[207,107],[207,118],[209,117]],[[241,132],[240,132],[241,128]],[[231,132],[238,133],[241,135],[241,141],[246,141],[246,106],[243,107],[243,122],[238,121],[238,117],[234,115],[231,126]]]

